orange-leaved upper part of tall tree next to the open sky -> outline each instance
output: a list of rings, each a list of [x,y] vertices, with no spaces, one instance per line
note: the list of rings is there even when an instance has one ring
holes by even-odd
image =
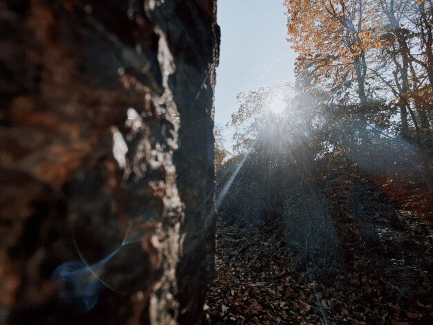
[[[286,0],[285,3],[288,41],[301,55],[317,58],[315,61],[320,64],[317,69],[323,71],[324,77],[349,78],[356,84],[359,117],[364,121],[369,97],[367,59],[377,25],[374,3],[365,0]]]

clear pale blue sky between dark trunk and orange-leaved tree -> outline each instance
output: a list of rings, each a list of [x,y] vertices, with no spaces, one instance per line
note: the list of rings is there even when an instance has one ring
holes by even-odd
[[[216,69],[215,122],[223,128],[226,149],[232,131],[225,129],[237,111],[236,95],[293,79],[295,53],[286,42],[282,0],[219,0],[221,55]]]

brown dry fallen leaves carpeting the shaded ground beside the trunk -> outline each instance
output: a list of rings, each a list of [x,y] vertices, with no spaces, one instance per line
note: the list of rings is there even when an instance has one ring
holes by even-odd
[[[371,263],[362,272],[329,266],[333,277],[326,281],[294,270],[275,229],[219,222],[216,278],[208,294],[211,324],[433,324],[431,297],[430,304],[401,305],[404,297],[394,293],[404,288]],[[431,295],[427,278],[419,285]]]

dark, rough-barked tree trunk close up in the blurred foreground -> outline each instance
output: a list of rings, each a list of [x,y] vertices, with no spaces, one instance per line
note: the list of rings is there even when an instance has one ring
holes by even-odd
[[[0,29],[0,323],[203,322],[216,0],[1,0]]]

